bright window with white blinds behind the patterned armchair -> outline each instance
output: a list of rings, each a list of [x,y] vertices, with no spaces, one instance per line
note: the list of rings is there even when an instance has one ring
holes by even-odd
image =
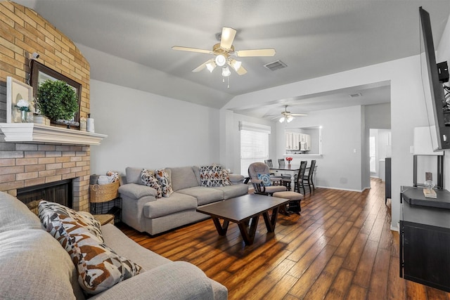
[[[248,166],[269,158],[270,126],[240,124],[240,174],[248,176]]]

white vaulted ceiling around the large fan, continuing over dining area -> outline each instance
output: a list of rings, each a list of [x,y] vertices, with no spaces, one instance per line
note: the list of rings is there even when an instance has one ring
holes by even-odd
[[[86,51],[83,53],[91,65],[92,79],[216,108],[243,93],[416,55],[418,7],[423,6],[430,13],[435,46],[450,13],[450,0],[16,2],[37,11]],[[212,74],[206,69],[191,72],[210,55],[171,48],[176,45],[211,49],[217,43],[215,34],[224,26],[237,30],[233,43],[236,50],[276,49],[274,57],[242,58],[248,73],[239,76],[232,71],[229,89],[222,82],[220,70]],[[136,84],[132,76],[124,77],[120,70],[105,68],[104,53],[109,58],[145,67],[148,79]],[[276,71],[263,67],[274,60],[281,60],[288,67]],[[116,65],[116,69],[120,67]],[[145,80],[147,75],[139,73],[139,77]],[[351,98],[349,94],[354,93],[362,96]],[[285,104],[295,105],[288,109],[291,112],[310,112],[324,107],[387,102],[390,86],[359,86],[331,95],[274,99],[264,107],[237,108],[236,112],[270,118],[281,112]]]

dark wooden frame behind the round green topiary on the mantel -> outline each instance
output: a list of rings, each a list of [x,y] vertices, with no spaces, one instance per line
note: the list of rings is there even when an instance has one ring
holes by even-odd
[[[46,65],[43,65],[34,59],[31,60],[30,68],[31,68],[30,84],[33,88],[34,98],[37,98],[37,90],[39,88],[39,84],[49,79],[53,81],[56,80],[65,81],[66,84],[68,84],[70,87],[72,87],[72,89],[74,89],[75,94],[77,95],[79,108],[78,112],[75,113],[75,117],[72,120],[70,120],[73,121],[73,124],[70,125],[79,127],[79,110],[81,109],[82,84],[79,84],[77,81],[70,79],[69,77],[66,77],[63,74],[60,74],[59,72],[56,72],[50,67],[47,67]]]

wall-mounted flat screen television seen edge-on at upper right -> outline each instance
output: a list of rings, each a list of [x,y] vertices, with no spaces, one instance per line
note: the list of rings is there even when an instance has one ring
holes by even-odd
[[[439,81],[430,14],[420,7],[419,15],[420,62],[432,148],[450,149],[450,105],[445,101],[444,87]]]

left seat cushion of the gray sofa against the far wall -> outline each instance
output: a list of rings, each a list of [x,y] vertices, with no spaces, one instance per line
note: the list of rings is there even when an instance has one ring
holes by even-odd
[[[195,197],[175,192],[169,199],[161,198],[144,204],[143,214],[146,218],[155,219],[179,211],[195,209],[197,209],[197,199]]]

